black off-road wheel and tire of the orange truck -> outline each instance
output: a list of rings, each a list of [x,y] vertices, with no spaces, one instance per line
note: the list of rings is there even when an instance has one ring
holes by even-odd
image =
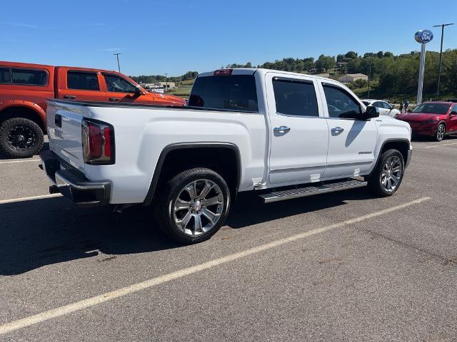
[[[0,152],[9,157],[32,157],[43,144],[43,131],[32,120],[11,118],[0,125]]]

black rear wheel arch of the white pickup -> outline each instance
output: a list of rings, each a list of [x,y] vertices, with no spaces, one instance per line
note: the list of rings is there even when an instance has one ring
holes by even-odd
[[[217,153],[210,159],[205,159],[201,157],[204,152]],[[198,157],[193,157],[191,161],[190,153]],[[176,163],[179,157],[184,157],[184,162]],[[162,150],[143,204],[151,204],[161,182],[192,167],[209,167],[218,172],[228,182],[233,200],[236,198],[241,182],[241,155],[238,147],[231,142],[180,142],[167,145]],[[167,173],[170,173],[170,177],[166,177]]]

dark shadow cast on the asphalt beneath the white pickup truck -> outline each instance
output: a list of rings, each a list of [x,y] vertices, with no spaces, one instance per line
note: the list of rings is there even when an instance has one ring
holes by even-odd
[[[367,198],[371,197],[366,190],[356,189],[263,204],[256,195],[243,194],[231,209],[226,227],[241,229]],[[62,197],[0,204],[0,275],[23,274],[100,252],[136,254],[181,247],[154,227],[151,208],[132,207],[120,216],[112,210],[80,209]]]

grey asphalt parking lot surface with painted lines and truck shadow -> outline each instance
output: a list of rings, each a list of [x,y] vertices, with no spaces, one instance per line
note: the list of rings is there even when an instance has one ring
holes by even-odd
[[[455,341],[457,139],[416,140],[393,197],[272,204],[179,246],[151,209],[49,195],[0,160],[0,341]]]

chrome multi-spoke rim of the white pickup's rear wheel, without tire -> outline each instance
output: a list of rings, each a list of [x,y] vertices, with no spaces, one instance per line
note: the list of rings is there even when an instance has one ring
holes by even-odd
[[[186,235],[209,232],[224,210],[221,188],[211,180],[195,180],[179,192],[173,205],[174,222]]]

